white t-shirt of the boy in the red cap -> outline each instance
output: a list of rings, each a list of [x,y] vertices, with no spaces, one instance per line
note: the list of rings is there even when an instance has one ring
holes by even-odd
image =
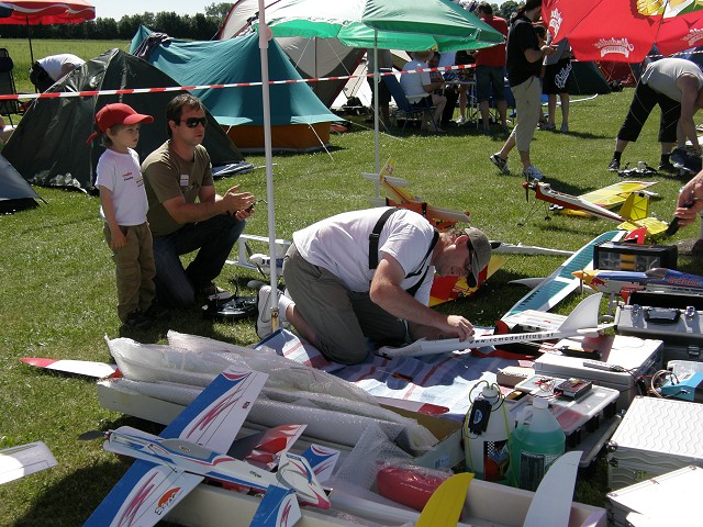
[[[112,192],[115,217],[119,225],[142,225],[146,222],[148,202],[140,168],[140,155],[132,148],[129,154],[107,149],[98,160],[96,187]],[[105,214],[100,208],[100,215]]]

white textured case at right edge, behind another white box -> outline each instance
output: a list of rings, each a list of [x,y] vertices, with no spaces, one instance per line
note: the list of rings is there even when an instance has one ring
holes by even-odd
[[[635,397],[607,450],[614,490],[688,464],[703,467],[703,404]]]

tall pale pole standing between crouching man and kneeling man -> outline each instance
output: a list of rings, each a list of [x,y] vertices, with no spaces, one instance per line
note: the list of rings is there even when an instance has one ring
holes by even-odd
[[[264,153],[266,158],[266,209],[268,211],[268,250],[271,265],[269,266],[271,278],[271,294],[269,307],[271,312],[271,328],[279,327],[278,313],[278,277],[276,261],[276,208],[274,204],[274,159],[271,146],[271,104],[268,85],[268,41],[272,37],[271,30],[266,25],[266,7],[264,0],[259,2],[259,49],[261,56],[261,102],[264,105]]]

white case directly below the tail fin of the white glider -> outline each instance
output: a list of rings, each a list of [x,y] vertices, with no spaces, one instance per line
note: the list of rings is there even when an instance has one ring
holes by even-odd
[[[640,395],[635,385],[639,375],[661,369],[661,340],[643,339],[622,335],[603,335],[598,338],[567,338],[555,345],[570,348],[598,349],[601,360],[593,361],[567,357],[558,352],[546,352],[533,365],[535,374],[553,375],[561,379],[578,378],[593,384],[611,388],[620,392],[617,412],[626,410],[635,395]]]

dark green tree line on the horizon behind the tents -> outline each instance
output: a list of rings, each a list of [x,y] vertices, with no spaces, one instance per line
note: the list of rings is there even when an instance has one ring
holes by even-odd
[[[145,25],[153,31],[166,33],[175,38],[210,41],[216,36],[232,5],[232,3],[212,3],[205,7],[204,13],[197,13],[192,16],[167,11],[145,12],[124,15],[119,21],[98,18],[80,24],[35,25],[32,26],[31,33],[32,38],[130,41],[140,25]],[[512,0],[503,2],[501,5],[493,4],[493,12],[510,20],[510,16],[517,10],[517,2]],[[2,25],[0,23],[0,36],[4,38],[25,38],[26,34],[27,29],[24,25]]]

